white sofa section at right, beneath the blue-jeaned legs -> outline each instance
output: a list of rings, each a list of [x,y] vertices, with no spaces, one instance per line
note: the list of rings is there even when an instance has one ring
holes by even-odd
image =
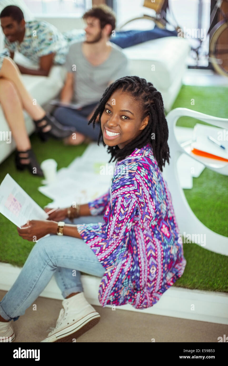
[[[180,65],[186,64],[189,49],[185,38],[164,37],[124,48],[123,52],[129,59],[130,75],[145,78],[158,90],[167,90]]]

